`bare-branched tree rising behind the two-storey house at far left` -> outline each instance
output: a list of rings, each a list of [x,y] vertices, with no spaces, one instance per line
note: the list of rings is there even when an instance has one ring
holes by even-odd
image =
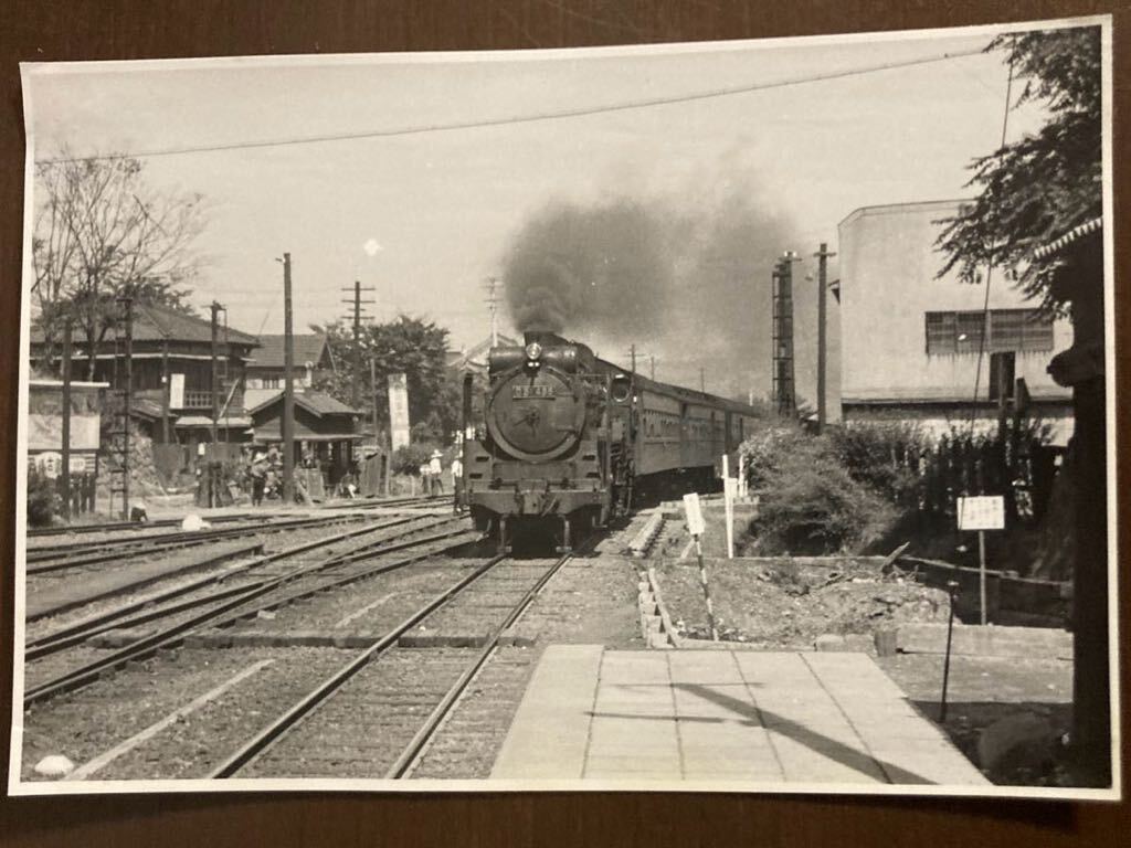
[[[35,167],[33,292],[50,352],[71,318],[90,354],[114,326],[118,298],[187,309],[182,287],[199,270],[192,243],[204,228],[200,194],[146,183],[127,156],[62,156]]]

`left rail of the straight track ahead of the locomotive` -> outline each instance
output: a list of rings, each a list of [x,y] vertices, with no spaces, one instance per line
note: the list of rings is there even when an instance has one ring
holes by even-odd
[[[363,650],[356,657],[354,657],[349,663],[339,668],[337,672],[331,674],[325,681],[322,681],[317,687],[314,687],[309,694],[303,696],[301,701],[294,704],[290,710],[283,713],[280,717],[271,721],[267,727],[260,730],[256,736],[248,742],[243,747],[233,753],[223,763],[216,767],[211,773],[208,775],[211,779],[225,779],[234,776],[240,769],[245,767],[251,761],[261,756],[266,751],[268,751],[275,743],[283,738],[287,732],[295,727],[303,718],[313,712],[319,706],[321,706],[330,695],[333,695],[338,689],[340,689],[347,681],[349,681],[357,672],[364,668],[369,663],[379,657],[390,647],[396,644],[400,637],[418,624],[421,621],[426,618],[429,615],[434,613],[437,609],[442,607],[449,600],[451,600],[456,595],[463,591],[465,588],[475,582],[478,578],[485,574],[487,571],[493,569],[499,562],[504,559],[502,554],[491,557],[483,565],[477,568],[473,573],[468,574],[464,579],[448,587],[444,591],[437,595],[429,603],[417,609],[415,613],[409,615],[400,624],[396,625],[392,630],[381,637],[378,641],[371,644],[369,648]]]

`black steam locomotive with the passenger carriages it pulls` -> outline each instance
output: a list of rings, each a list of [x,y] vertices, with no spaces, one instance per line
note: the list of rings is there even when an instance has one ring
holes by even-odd
[[[578,529],[644,499],[715,488],[723,453],[756,417],[745,404],[648,380],[553,334],[527,332],[487,362],[477,415],[472,377],[464,381],[463,502],[503,552],[519,538],[568,551]]]

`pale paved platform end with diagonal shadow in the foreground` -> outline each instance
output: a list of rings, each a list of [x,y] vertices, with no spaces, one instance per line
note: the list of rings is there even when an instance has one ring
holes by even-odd
[[[546,648],[491,777],[988,784],[864,654],[601,646]]]

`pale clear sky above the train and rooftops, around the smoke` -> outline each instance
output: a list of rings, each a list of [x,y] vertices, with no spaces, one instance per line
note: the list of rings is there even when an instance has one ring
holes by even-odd
[[[856,208],[972,193],[967,165],[1001,139],[1008,72],[1000,53],[956,54],[992,36],[38,64],[25,93],[37,158],[138,154],[155,187],[205,196],[196,248],[207,267],[189,300],[221,301],[232,327],[282,332],[276,258],[286,251],[296,328],[346,314],[342,289],[359,279],[374,289],[378,320],[424,317],[450,330],[454,348],[472,346],[489,331],[485,280],[532,217],[629,202],[682,222],[663,231],[677,266],[663,304],[671,326],[567,335],[618,362],[634,344],[659,379],[698,384],[705,367],[709,390],[762,396],[772,257],[794,250],[805,260],[795,271],[804,395],[811,254],[822,241],[836,250],[837,224]],[[838,73],[848,76],[827,78]],[[752,86],[768,87],[506,122]],[[1008,137],[1042,120],[1034,106],[1013,110]],[[475,122],[498,123],[271,144]],[[268,146],[184,149],[248,142]],[[744,249],[748,237],[758,250]],[[723,288],[701,288],[700,274],[723,275]],[[504,305],[500,321],[508,331]]]

